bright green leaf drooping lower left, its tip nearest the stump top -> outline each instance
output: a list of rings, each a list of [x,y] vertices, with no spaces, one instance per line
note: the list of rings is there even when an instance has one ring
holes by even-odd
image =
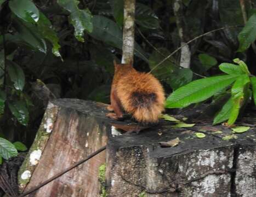
[[[230,98],[221,108],[221,110],[215,115],[213,125],[222,123],[223,121],[229,119],[232,107],[232,99]]]

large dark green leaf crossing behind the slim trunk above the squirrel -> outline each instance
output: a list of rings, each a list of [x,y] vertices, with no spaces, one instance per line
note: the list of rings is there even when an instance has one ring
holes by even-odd
[[[122,49],[123,33],[121,29],[115,22],[104,16],[93,16],[93,32],[89,34],[95,39],[110,44],[112,47]],[[146,53],[137,43],[134,46],[134,54],[144,61],[148,61]]]

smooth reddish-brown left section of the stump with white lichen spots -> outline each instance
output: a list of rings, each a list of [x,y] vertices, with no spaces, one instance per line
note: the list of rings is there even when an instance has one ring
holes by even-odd
[[[30,190],[104,146],[107,141],[104,108],[90,101],[51,101],[36,140],[20,169],[20,189],[25,192]],[[38,158],[35,159],[35,156]],[[55,179],[31,196],[99,196],[98,171],[103,163],[105,152]],[[26,176],[30,173],[31,177]]]

